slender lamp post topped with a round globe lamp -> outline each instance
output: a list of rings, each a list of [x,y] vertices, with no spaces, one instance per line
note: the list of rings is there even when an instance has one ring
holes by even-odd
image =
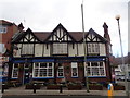
[[[120,15],[116,15],[115,17],[118,22],[118,30],[119,30],[119,39],[120,39],[120,48],[121,48],[121,63],[122,63],[122,66],[123,66],[123,73],[125,73],[125,87],[126,87],[126,95],[129,96],[129,93],[128,93],[128,85],[127,85],[127,69],[126,69],[126,65],[125,65],[125,58],[123,58],[123,51],[122,51],[122,40],[121,40],[121,33],[120,33],[120,23],[119,23],[119,20],[120,20]]]

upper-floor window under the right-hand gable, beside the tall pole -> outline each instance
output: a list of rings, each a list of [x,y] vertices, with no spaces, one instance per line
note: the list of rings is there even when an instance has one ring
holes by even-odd
[[[88,54],[99,54],[100,46],[99,44],[88,44]]]

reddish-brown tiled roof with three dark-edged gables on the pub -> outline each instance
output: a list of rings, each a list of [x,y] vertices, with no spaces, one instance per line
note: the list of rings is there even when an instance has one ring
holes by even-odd
[[[62,28],[66,34],[73,39],[73,41],[83,41],[83,33],[82,32],[67,32],[66,28],[60,23],[53,32],[32,32],[30,28],[28,28],[26,32],[23,33],[17,33],[12,42],[17,42],[20,41],[24,36],[26,36],[28,33],[30,33],[35,38],[40,41],[40,42],[47,42],[48,39],[54,35],[54,32],[56,32],[58,28]],[[84,37],[87,38],[89,34],[95,35],[101,41],[106,42],[107,40],[103,38],[101,35],[95,33],[92,28],[90,28],[89,32],[84,33]]]

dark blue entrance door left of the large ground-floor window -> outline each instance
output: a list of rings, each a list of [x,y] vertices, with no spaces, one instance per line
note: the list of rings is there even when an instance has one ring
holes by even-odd
[[[29,83],[29,64],[25,64],[24,66],[24,84]]]

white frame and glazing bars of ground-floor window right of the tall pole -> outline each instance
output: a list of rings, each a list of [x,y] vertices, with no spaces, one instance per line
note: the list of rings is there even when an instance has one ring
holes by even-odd
[[[84,69],[84,76],[87,76],[87,69],[88,69],[88,76],[106,76],[106,71],[105,71],[105,62],[88,62],[89,64],[87,64],[86,69]],[[96,63],[98,66],[92,66],[92,63]],[[100,66],[100,64],[102,63],[102,66]],[[93,73],[93,69],[98,69],[98,74],[92,74]],[[103,74],[101,73],[103,70]],[[89,73],[90,72],[90,73]]]

